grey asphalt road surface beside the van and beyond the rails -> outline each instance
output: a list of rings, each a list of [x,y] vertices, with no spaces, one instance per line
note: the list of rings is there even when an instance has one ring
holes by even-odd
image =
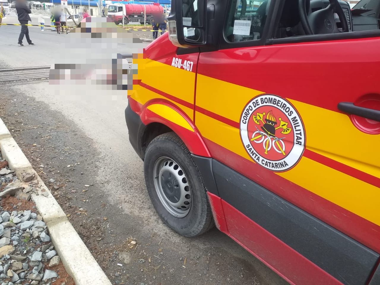
[[[19,30],[0,28],[2,68],[52,65],[70,53],[69,35],[30,28],[36,46],[18,47]],[[0,86],[0,116],[32,164],[44,165],[41,177],[113,284],[287,284],[215,228],[196,238],[169,230],[128,141],[125,92],[76,87],[59,93],[47,82]],[[137,249],[126,247],[130,236]]]

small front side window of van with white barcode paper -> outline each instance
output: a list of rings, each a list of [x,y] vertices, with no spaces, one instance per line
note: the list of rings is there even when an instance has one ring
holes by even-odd
[[[269,0],[232,0],[228,10],[225,37],[230,42],[260,40],[266,22]]]

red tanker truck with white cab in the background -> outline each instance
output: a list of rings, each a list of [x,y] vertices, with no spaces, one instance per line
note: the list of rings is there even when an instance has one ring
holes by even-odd
[[[140,22],[144,24],[144,7],[146,22],[152,24],[153,17],[164,13],[163,6],[158,3],[142,4],[112,4],[108,6],[108,17],[116,24],[120,24],[124,15],[124,24]]]

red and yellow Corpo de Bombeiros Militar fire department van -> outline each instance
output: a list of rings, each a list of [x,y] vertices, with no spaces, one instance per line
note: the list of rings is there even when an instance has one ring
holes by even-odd
[[[363,1],[172,1],[125,110],[170,228],[215,224],[290,284],[380,284],[380,1]]]

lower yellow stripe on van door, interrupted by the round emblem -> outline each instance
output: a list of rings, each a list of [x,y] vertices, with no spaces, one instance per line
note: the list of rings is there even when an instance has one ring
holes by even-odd
[[[237,128],[200,112],[195,117],[202,136],[255,163],[245,152]],[[289,171],[275,174],[380,225],[379,189],[373,185],[306,157]]]

